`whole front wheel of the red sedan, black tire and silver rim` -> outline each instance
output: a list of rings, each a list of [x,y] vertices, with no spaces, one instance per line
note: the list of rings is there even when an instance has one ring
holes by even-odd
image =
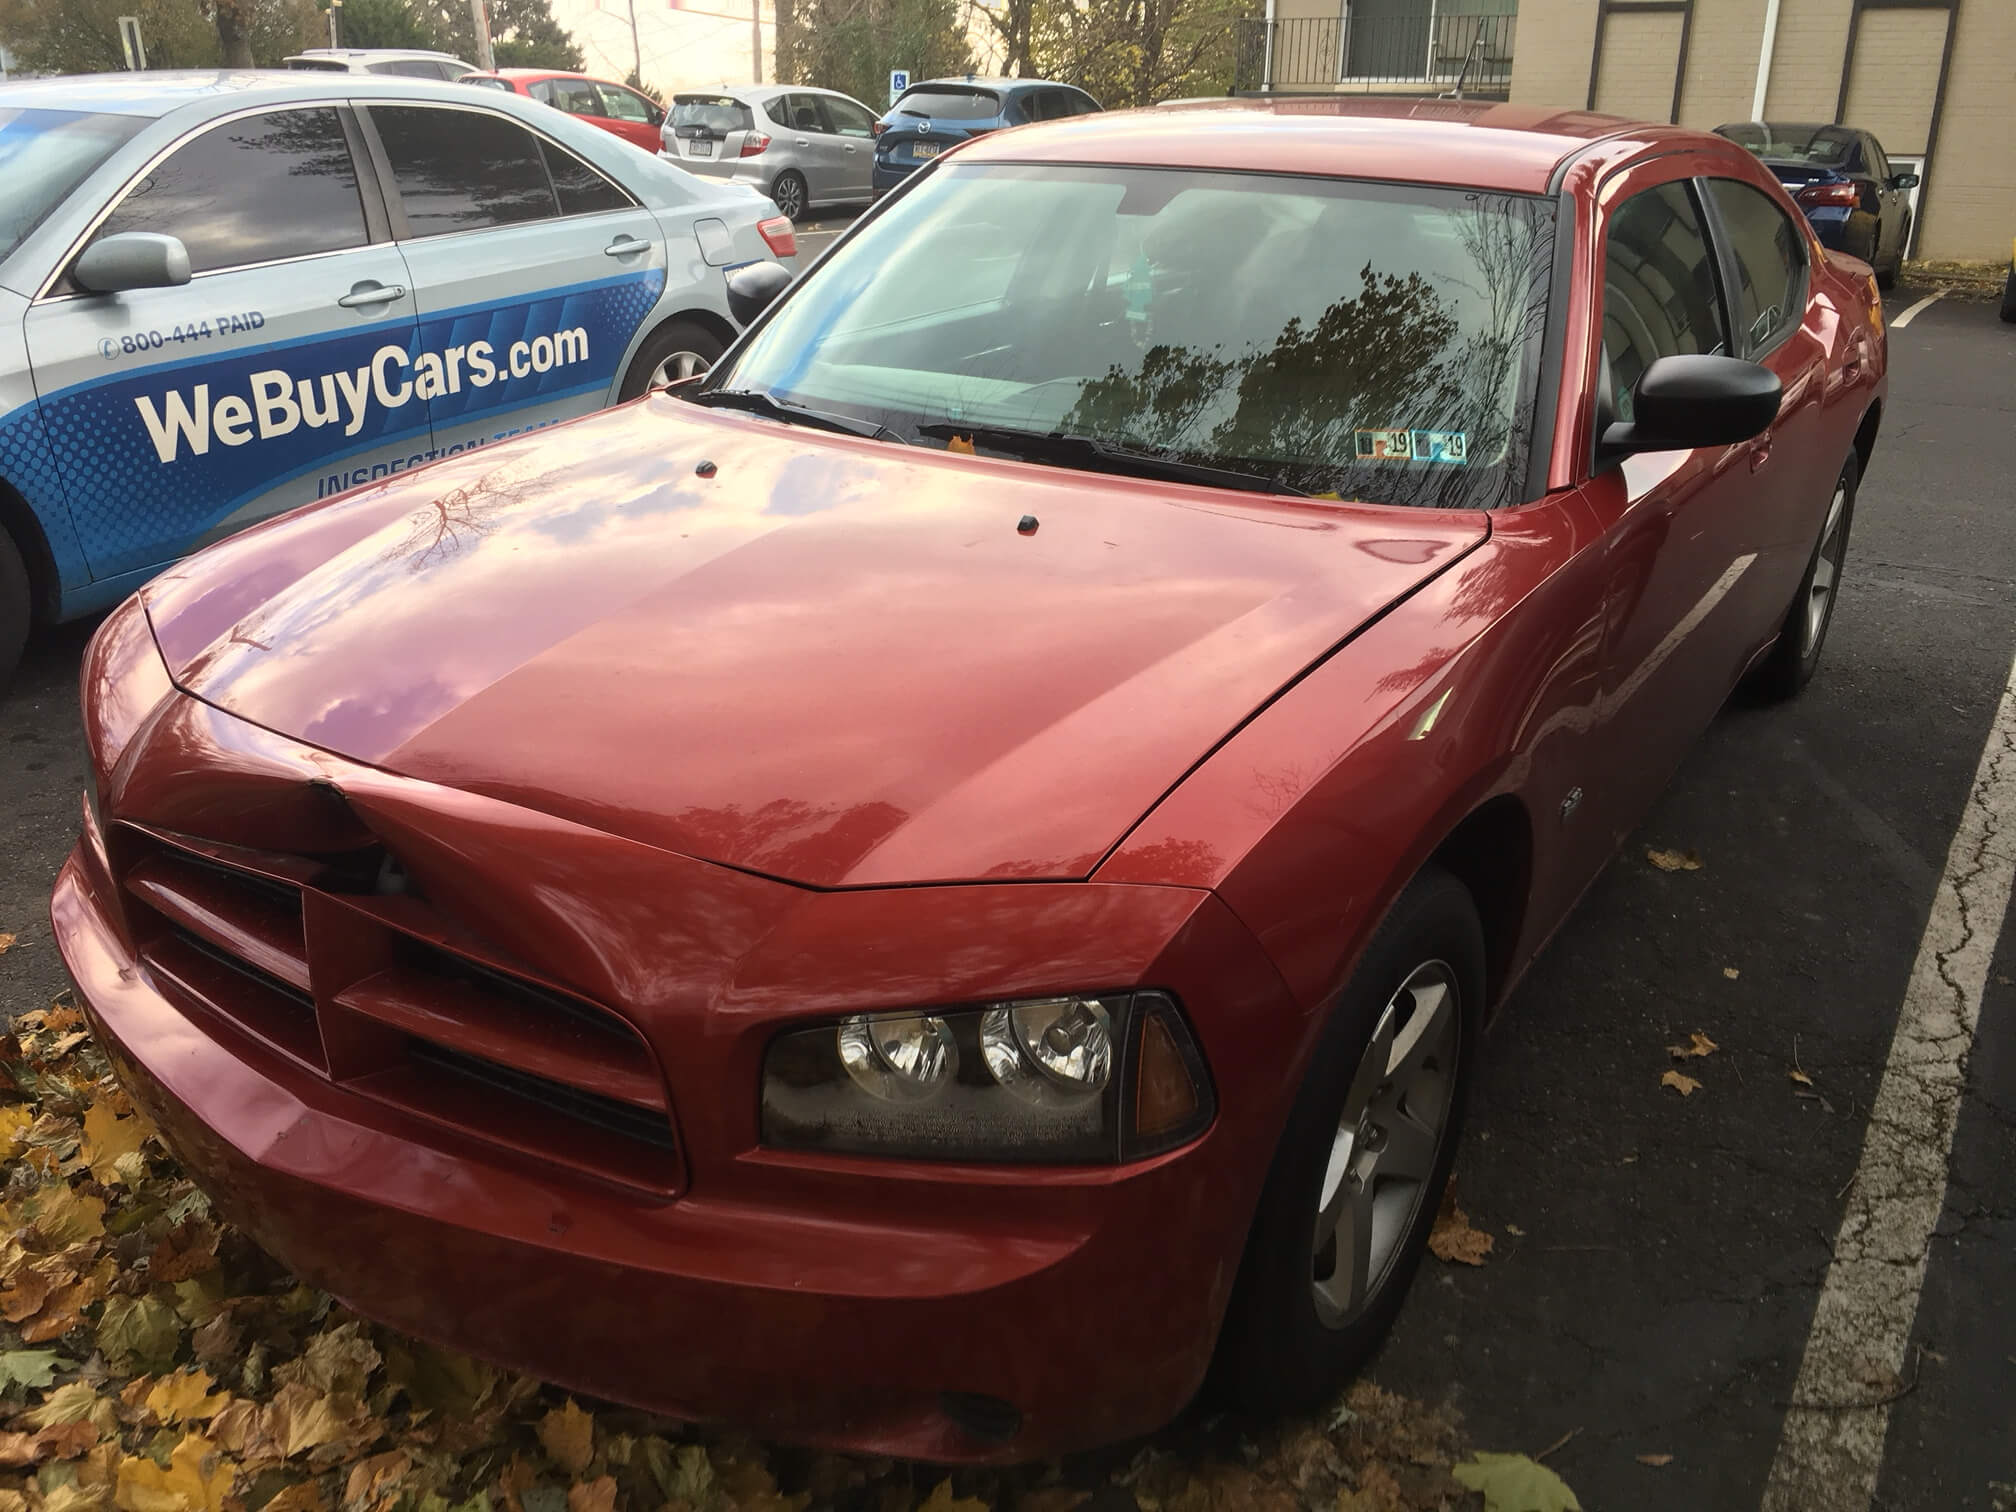
[[[1373,935],[1288,1113],[1214,1367],[1232,1405],[1316,1407],[1393,1327],[1456,1161],[1482,1010],[1476,903],[1429,867]]]

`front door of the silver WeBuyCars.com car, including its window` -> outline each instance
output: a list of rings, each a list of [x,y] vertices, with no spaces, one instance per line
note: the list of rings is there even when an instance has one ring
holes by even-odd
[[[395,379],[417,337],[413,280],[357,141],[339,105],[194,131],[93,232],[177,236],[190,282],[93,294],[65,272],[30,306],[93,577],[425,458],[427,405]]]

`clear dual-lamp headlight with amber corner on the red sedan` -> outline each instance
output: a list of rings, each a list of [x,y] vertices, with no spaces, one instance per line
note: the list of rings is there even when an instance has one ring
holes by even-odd
[[[1163,992],[853,1014],[764,1056],[762,1137],[784,1149],[1123,1161],[1210,1121],[1204,1060]]]

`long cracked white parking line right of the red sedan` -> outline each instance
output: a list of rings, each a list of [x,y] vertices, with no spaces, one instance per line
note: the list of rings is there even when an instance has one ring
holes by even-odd
[[[2016,665],[1911,966],[1764,1512],[1867,1512],[1875,1496],[1889,1403],[1909,1385],[1905,1351],[2012,881]]]

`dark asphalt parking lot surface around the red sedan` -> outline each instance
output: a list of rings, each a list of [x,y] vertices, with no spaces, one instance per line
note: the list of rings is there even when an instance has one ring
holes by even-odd
[[[808,222],[800,246],[816,254],[841,220]],[[1913,300],[1899,292],[1893,317]],[[1907,1369],[1792,1405],[2016,655],[2016,327],[1943,300],[1895,331],[1891,361],[1820,677],[1790,708],[1722,714],[1518,992],[1458,1173],[1494,1250],[1478,1268],[1429,1262],[1375,1367],[1454,1403],[1482,1447],[1550,1450],[1587,1508],[1756,1508],[1788,1413],[1877,1397],[1891,1399],[1881,1508],[2016,1506],[2010,933],[1988,966]],[[40,635],[0,700],[8,1014],[62,986],[46,889],[77,833],[89,631]],[[1647,849],[1699,869],[1661,871]],[[1699,1089],[1681,1097],[1661,1073],[1695,1030],[1718,1048],[1685,1062]]]

